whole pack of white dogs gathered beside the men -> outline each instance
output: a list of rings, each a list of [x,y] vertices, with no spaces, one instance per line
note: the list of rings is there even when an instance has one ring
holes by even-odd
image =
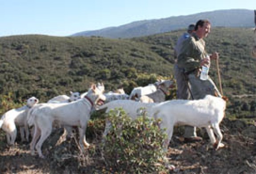
[[[107,113],[115,108],[122,108],[132,119],[136,119],[141,115],[141,108],[144,108],[148,117],[162,120],[160,128],[165,128],[167,134],[163,143],[164,150],[168,149],[175,125],[205,127],[212,146],[216,150],[223,147],[219,124],[224,118],[227,99],[206,95],[204,99],[198,100],[165,101],[168,91],[173,87],[172,80],[159,80],[145,87],[136,87],[127,95],[123,89],[104,93],[104,84],[98,83],[92,84],[81,95],[79,92],[71,92],[70,96],[59,95],[47,103],[39,103],[36,97],[31,97],[25,106],[4,113],[0,119],[0,128],[7,135],[7,143],[13,145],[16,140],[16,127],[20,128],[22,141],[29,140],[29,127],[33,127],[31,154],[37,152],[40,158],[44,158],[41,146],[51,134],[55,125],[53,123],[64,127],[66,134],[72,134],[72,127],[78,127],[79,146],[83,151],[84,146],[89,146],[85,130],[92,111],[107,108]],[[106,121],[104,136],[110,128],[111,123]]]

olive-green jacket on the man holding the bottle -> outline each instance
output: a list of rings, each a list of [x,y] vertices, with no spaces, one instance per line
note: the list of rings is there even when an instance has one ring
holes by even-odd
[[[192,33],[192,35],[182,43],[180,55],[177,60],[178,67],[184,68],[185,72],[200,68],[200,60],[207,55],[204,47],[204,40],[199,39],[195,33]]]

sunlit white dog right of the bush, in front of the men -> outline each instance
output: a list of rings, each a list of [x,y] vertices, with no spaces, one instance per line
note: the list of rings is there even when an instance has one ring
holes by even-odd
[[[224,118],[226,101],[228,101],[226,97],[206,95],[204,99],[169,100],[159,105],[155,114],[162,119],[162,127],[167,128],[168,139],[164,145],[165,149],[167,150],[175,125],[205,127],[216,150],[223,147],[219,124]],[[217,140],[213,132],[217,135]]]

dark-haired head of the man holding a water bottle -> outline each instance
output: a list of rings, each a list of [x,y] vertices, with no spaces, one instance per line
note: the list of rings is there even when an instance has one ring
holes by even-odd
[[[196,22],[195,31],[199,38],[204,38],[208,36],[211,30],[211,23],[208,20],[198,20]]]

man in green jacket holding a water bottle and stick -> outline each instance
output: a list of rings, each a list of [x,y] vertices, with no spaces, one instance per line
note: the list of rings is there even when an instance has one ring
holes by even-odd
[[[177,65],[184,68],[190,85],[191,98],[203,99],[205,95],[220,95],[212,79],[200,79],[200,71],[203,65],[209,65],[210,59],[217,59],[218,53],[214,52],[207,58],[208,54],[204,50],[204,38],[210,33],[211,24],[208,20],[198,20],[195,26],[195,32],[184,40],[178,55]],[[200,141],[201,138],[196,136],[196,127],[185,127],[185,140]]]

